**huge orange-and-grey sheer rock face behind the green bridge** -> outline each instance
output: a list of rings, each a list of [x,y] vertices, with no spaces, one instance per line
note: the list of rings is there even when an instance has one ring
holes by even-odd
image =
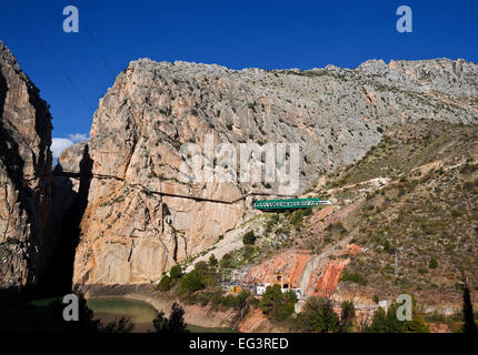
[[[464,61],[370,61],[356,70],[310,71],[131,62],[101,99],[89,142],[59,159],[61,170],[91,176],[74,283],[158,278],[176,262],[210,247],[250,204],[223,202],[278,192],[277,182],[237,182],[231,166],[217,163],[220,154],[206,156],[201,166],[212,165],[226,182],[185,182],[181,163],[189,155],[181,156],[181,144],[196,143],[202,153],[207,134],[215,144],[235,146],[298,143],[299,194],[320,174],[360,160],[395,123],[477,122],[476,82],[477,65]],[[81,172],[86,148],[91,166]],[[279,159],[277,176],[285,170]]]

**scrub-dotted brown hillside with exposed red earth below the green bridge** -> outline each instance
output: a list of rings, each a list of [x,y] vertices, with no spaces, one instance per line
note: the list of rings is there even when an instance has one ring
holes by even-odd
[[[226,256],[253,281],[306,295],[375,310],[374,298],[390,303],[408,293],[424,311],[451,313],[461,306],[461,271],[478,285],[477,193],[476,124],[398,124],[359,163],[307,194],[333,205],[310,215],[261,214],[242,231],[253,231],[253,248]],[[225,257],[218,246],[195,262],[210,254]]]

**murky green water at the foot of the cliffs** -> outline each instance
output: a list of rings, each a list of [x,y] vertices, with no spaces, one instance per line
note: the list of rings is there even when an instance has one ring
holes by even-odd
[[[88,298],[88,307],[90,307],[97,320],[101,320],[103,324],[113,322],[114,318],[127,317],[135,325],[135,333],[145,333],[153,331],[152,320],[156,318],[158,312],[147,302],[118,298],[102,297]],[[188,325],[191,333],[230,333],[229,328],[206,328],[196,325]]]

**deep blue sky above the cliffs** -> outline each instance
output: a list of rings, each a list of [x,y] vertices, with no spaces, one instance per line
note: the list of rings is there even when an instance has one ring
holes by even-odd
[[[62,30],[68,4],[79,9],[79,33]],[[412,33],[396,30],[401,4],[414,11]],[[0,39],[50,103],[52,135],[63,146],[88,135],[98,100],[138,58],[233,69],[441,57],[478,62],[477,23],[478,2],[470,0],[3,0]]]

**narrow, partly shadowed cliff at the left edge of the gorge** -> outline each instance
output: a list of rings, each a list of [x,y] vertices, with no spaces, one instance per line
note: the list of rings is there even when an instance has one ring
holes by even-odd
[[[0,42],[0,287],[34,284],[50,248],[51,116]]]

